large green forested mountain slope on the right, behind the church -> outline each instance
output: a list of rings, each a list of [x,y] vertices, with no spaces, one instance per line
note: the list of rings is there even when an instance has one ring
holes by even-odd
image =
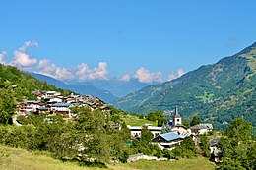
[[[241,52],[160,85],[150,85],[114,103],[130,112],[174,110],[197,114],[218,128],[243,116],[256,126],[256,43]]]

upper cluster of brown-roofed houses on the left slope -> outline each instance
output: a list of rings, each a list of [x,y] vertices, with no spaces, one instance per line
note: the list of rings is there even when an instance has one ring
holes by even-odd
[[[100,108],[103,111],[108,111],[109,108],[99,98],[91,95],[75,95],[73,93],[63,96],[56,91],[35,90],[32,92],[37,97],[37,100],[26,100],[17,103],[17,112],[22,115],[31,113],[50,113],[63,114],[69,117],[75,116],[71,113],[70,108],[74,106],[87,106],[92,110]]]

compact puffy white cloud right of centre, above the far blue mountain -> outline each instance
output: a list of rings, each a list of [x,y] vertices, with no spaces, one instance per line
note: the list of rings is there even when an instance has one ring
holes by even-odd
[[[141,83],[162,82],[161,72],[151,73],[143,67],[136,71],[134,77]]]

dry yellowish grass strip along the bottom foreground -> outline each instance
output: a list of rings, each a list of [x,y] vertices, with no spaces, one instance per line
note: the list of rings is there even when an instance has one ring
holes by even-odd
[[[139,160],[126,164],[108,165],[108,168],[81,167],[74,162],[53,159],[47,153],[29,152],[0,145],[1,170],[212,170],[215,167],[215,164],[203,157],[177,161]]]

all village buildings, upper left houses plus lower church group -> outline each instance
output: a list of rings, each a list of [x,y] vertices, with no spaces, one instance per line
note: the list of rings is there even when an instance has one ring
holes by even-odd
[[[37,97],[37,100],[25,100],[24,102],[17,103],[17,115],[16,116],[28,116],[28,115],[39,115],[44,113],[49,113],[50,115],[63,115],[65,117],[76,118],[77,114],[72,113],[72,107],[89,107],[92,111],[95,109],[100,109],[103,112],[110,112],[109,107],[99,98],[93,97],[91,95],[78,95],[70,93],[67,96],[61,95],[57,91],[47,91],[47,90],[35,90],[32,92],[33,95]],[[50,120],[49,118],[47,120]],[[17,121],[15,119],[15,121]],[[15,122],[15,124],[21,126],[20,123]],[[121,129],[118,124],[112,125],[112,127]],[[143,128],[147,128],[152,134],[152,144],[156,144],[161,150],[168,149],[173,150],[176,146],[186,138],[191,137],[195,146],[200,149],[200,139],[198,135],[207,135],[213,131],[212,124],[197,124],[190,128],[182,125],[182,117],[176,108],[175,113],[168,122],[163,123],[161,127],[152,126],[152,124],[145,124],[143,126],[130,126],[127,128],[130,130],[130,139],[140,139],[141,132]],[[218,138],[210,141],[211,145],[209,150],[211,154],[214,155],[212,161],[218,162]],[[141,155],[138,155],[141,157]],[[132,156],[133,158],[129,161],[138,160],[138,156]],[[147,157],[141,157],[143,159],[148,159]]]

